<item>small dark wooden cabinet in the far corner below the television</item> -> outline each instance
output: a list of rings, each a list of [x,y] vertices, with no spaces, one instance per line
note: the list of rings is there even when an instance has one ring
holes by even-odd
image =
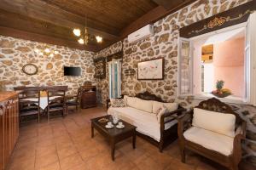
[[[82,86],[81,87],[81,108],[96,107],[96,87]]]

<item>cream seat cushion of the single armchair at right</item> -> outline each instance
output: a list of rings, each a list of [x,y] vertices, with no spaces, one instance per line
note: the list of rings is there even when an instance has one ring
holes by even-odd
[[[233,138],[201,127],[190,127],[183,133],[183,136],[195,144],[200,144],[209,150],[215,150],[224,156],[230,156],[233,151]]]

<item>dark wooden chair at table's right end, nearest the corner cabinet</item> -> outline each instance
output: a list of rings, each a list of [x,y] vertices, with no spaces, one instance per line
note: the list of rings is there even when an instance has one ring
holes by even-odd
[[[76,95],[66,96],[66,105],[67,105],[67,114],[69,108],[75,108],[76,111],[79,111],[81,103],[81,88],[78,89]]]

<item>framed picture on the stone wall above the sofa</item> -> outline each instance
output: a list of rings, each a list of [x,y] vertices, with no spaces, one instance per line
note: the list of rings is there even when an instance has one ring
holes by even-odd
[[[163,80],[164,59],[148,59],[137,63],[137,80]]]

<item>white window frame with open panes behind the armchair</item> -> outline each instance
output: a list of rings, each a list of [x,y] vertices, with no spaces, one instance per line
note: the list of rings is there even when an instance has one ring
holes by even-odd
[[[252,49],[250,48],[250,46],[252,47],[255,47],[256,46],[256,32],[255,32],[255,28],[256,28],[256,12],[254,12],[253,14],[250,14],[250,17],[249,19],[247,20],[247,22],[245,23],[241,23],[241,24],[238,24],[236,26],[229,26],[229,27],[226,27],[226,28],[223,28],[223,29],[220,29],[218,31],[212,31],[212,32],[209,32],[207,34],[203,34],[203,35],[200,35],[200,36],[197,36],[197,37],[191,37],[191,38],[183,38],[183,37],[179,37],[178,38],[178,42],[177,42],[177,53],[178,53],[178,56],[177,56],[177,95],[178,97],[181,96],[181,97],[184,97],[184,96],[194,96],[195,99],[209,99],[209,98],[212,98],[212,95],[209,94],[209,95],[205,95],[205,94],[201,94],[201,95],[195,95],[193,93],[194,91],[194,77],[193,77],[193,71],[194,71],[194,61],[193,61],[193,53],[192,53],[192,48],[193,48],[193,51],[194,51],[194,46],[193,46],[193,41],[195,41],[196,39],[200,39],[202,37],[209,37],[209,36],[212,36],[214,34],[218,34],[218,33],[221,33],[221,32],[224,32],[224,31],[230,31],[230,30],[234,30],[234,29],[237,29],[237,28],[241,28],[241,27],[244,27],[246,28],[246,42],[249,41],[249,45],[246,44],[245,46],[245,52],[246,52],[246,49],[249,48],[250,49],[250,53],[249,55],[250,56],[246,56],[245,55],[245,62],[247,62],[247,64],[245,64],[245,67],[247,67],[247,65],[250,67],[250,69],[248,71],[245,71],[245,77],[247,77],[246,79],[246,98],[245,99],[232,99],[232,98],[225,98],[225,99],[220,99],[224,102],[227,102],[227,103],[235,103],[235,104],[246,104],[246,105],[255,105],[256,106],[256,48]],[[254,28],[254,29],[253,29]],[[249,34],[247,34],[249,32]],[[247,35],[249,35],[249,40],[248,40],[248,37]],[[181,62],[180,62],[180,57],[181,57],[181,42],[183,40],[186,40],[186,41],[190,41],[190,56],[191,56],[191,60],[192,60],[192,65],[190,65],[191,67],[191,89],[192,89],[192,94],[180,94],[180,81],[181,81],[181,75],[180,75],[180,65],[181,65]],[[247,68],[245,68],[247,69]],[[254,95],[252,95],[254,94]]]

